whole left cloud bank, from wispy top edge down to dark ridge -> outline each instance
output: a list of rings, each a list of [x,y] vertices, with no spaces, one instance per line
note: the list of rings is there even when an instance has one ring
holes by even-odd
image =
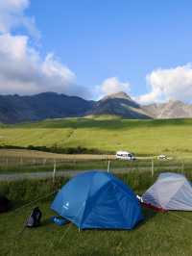
[[[89,97],[90,91],[76,84],[75,73],[53,53],[43,58],[29,43],[32,36],[38,36],[34,18],[24,14],[29,5],[29,0],[0,0],[0,93],[56,91]],[[28,36],[12,35],[20,26],[27,28]]]

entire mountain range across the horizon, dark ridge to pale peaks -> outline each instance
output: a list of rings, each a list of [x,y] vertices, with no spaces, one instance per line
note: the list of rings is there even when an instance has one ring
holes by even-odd
[[[55,92],[31,96],[0,95],[0,122],[3,123],[86,115],[119,115],[132,119],[192,117],[192,105],[172,100],[141,106],[123,91],[99,101]]]

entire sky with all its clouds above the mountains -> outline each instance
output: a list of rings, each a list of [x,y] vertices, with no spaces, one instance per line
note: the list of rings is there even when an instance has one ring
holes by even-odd
[[[0,0],[0,93],[192,103],[191,0]]]

